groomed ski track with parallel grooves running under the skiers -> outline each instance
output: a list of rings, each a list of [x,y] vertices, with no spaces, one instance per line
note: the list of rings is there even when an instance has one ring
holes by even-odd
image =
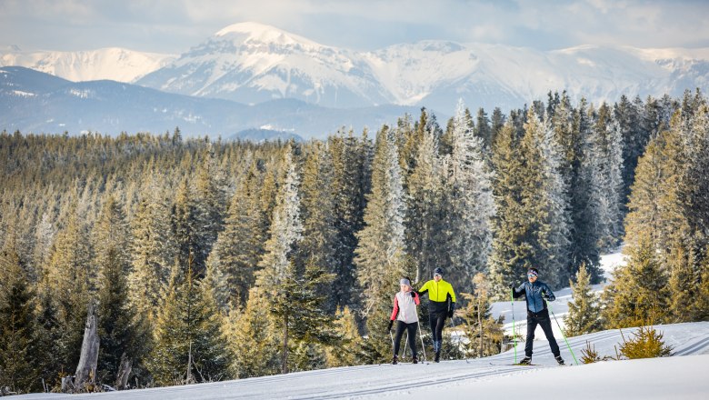
[[[709,322],[657,325],[664,335],[665,345],[673,348],[674,356],[709,355]],[[635,329],[624,329],[625,339],[633,337]],[[543,335],[544,336],[544,335]],[[617,329],[569,338],[576,358],[582,355],[586,342],[594,345],[601,355],[615,356],[615,347],[623,343]],[[557,337],[567,365],[573,365],[564,339]],[[524,343],[517,345],[517,361],[524,357]],[[404,360],[405,361],[405,360]],[[422,360],[423,361],[423,360]],[[514,350],[482,359],[442,361],[439,364],[359,365],[287,375],[262,376],[200,385],[160,387],[92,395],[20,395],[18,399],[336,399],[383,397],[415,392],[426,386],[453,385],[490,379],[495,376],[520,375],[530,378],[539,370],[557,368],[545,340],[534,342],[534,365],[515,366]],[[615,363],[615,362],[613,362]],[[584,368],[586,365],[574,366]]]

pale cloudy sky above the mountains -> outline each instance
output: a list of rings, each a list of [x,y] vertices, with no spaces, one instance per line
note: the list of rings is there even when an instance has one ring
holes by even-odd
[[[708,17],[706,0],[0,0],[0,45],[179,54],[253,21],[355,50],[423,39],[709,47]]]

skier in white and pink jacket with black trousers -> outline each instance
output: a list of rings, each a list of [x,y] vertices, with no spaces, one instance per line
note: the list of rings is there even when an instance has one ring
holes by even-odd
[[[418,325],[418,312],[416,305],[419,305],[420,299],[418,294],[411,287],[411,279],[404,277],[399,281],[401,291],[394,295],[394,310],[389,318],[389,327],[387,332],[391,333],[392,325],[396,321],[396,334],[394,335],[394,358],[392,364],[398,362],[399,345],[401,336],[404,335],[404,330],[408,332],[409,347],[411,347],[411,362],[416,364],[416,326]]]

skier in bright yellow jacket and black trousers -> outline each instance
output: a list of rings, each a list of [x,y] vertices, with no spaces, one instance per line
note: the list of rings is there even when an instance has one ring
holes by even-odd
[[[434,362],[441,359],[441,345],[443,344],[443,327],[445,317],[453,317],[455,308],[455,292],[453,286],[443,279],[444,269],[440,266],[434,269],[434,279],[426,282],[418,295],[428,293],[428,321],[431,324],[431,335],[434,341]]]

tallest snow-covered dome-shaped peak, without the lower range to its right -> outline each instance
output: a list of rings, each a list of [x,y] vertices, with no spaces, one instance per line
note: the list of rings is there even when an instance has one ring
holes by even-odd
[[[390,103],[360,56],[255,23],[225,27],[139,84],[246,104],[287,97],[338,107]]]

